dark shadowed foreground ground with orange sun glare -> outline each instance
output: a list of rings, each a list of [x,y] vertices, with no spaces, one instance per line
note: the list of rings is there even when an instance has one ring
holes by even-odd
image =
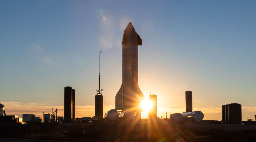
[[[211,128],[212,127],[212,128]],[[256,130],[224,130],[221,124],[162,122],[1,124],[0,137],[57,141],[254,141]],[[226,125],[225,128],[246,128]],[[255,126],[252,126],[255,128]],[[206,129],[207,128],[207,129]],[[224,127],[223,127],[224,128]],[[251,128],[251,127],[250,127]],[[241,131],[242,130],[242,131]]]

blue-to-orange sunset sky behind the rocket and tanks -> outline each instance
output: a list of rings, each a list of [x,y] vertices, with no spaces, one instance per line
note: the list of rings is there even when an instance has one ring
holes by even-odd
[[[139,87],[158,97],[158,116],[182,113],[185,91],[204,120],[221,105],[255,119],[256,1],[0,1],[0,103],[7,115],[63,115],[64,87],[76,90],[76,116],[94,115],[101,54],[104,110],[122,83],[122,35],[142,39]],[[147,114],[142,112],[142,116]]]

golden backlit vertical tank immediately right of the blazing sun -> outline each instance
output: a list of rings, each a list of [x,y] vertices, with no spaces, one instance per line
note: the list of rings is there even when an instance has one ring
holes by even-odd
[[[149,95],[149,101],[152,102],[152,108],[148,111],[148,118],[156,120],[157,118],[157,95]]]

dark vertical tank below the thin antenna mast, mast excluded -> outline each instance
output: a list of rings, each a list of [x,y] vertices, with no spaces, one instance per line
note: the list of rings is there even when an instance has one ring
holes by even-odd
[[[103,95],[95,95],[95,116],[103,118]]]

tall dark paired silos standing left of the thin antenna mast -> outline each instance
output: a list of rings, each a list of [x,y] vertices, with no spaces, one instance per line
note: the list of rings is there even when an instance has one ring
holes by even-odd
[[[75,120],[75,89],[72,87],[64,88],[64,121],[71,122]]]

